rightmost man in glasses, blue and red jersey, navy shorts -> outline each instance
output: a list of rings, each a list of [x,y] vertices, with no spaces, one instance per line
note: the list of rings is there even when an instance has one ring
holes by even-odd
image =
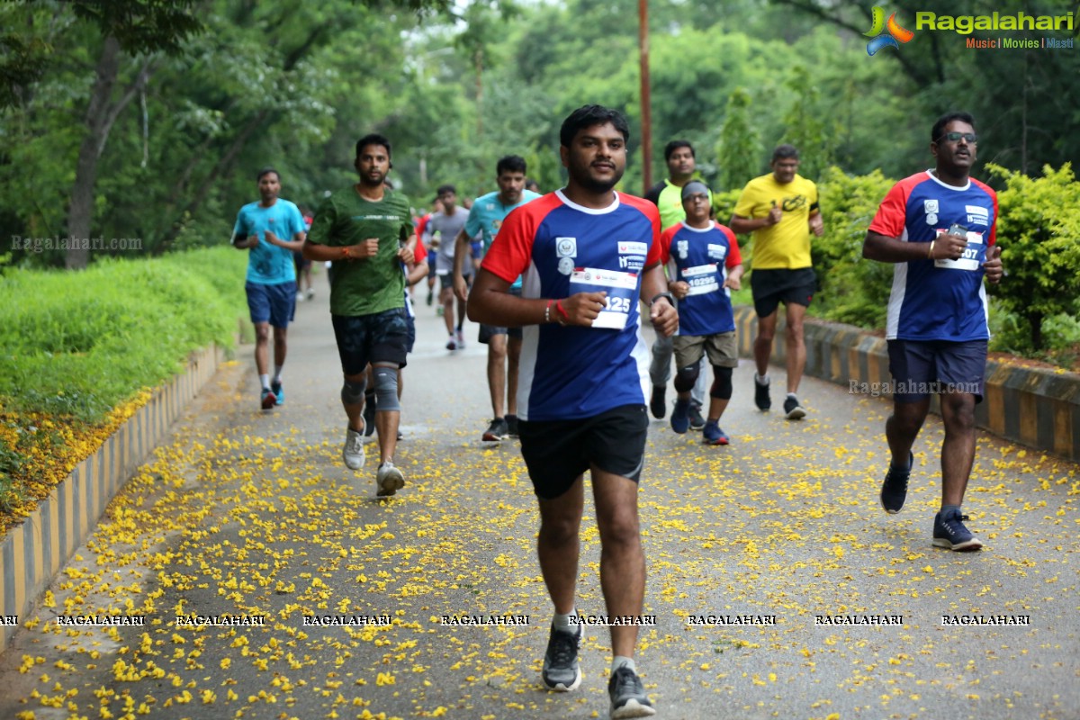
[[[970,114],[942,116],[930,133],[936,167],[893,186],[863,242],[863,257],[896,263],[886,328],[896,383],[885,426],[892,461],[881,506],[890,514],[904,506],[912,446],[936,393],[945,441],[933,545],[954,551],[983,546],[963,525],[960,505],[975,460],[975,405],[990,337],[983,277],[997,283],[1002,274],[997,194],[969,177],[976,148]]]

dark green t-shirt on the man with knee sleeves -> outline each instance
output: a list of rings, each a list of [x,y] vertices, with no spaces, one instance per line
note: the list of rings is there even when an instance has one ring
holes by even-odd
[[[335,260],[330,268],[330,313],[372,315],[405,305],[405,274],[397,250],[413,235],[408,199],[386,190],[382,200],[360,196],[355,186],[323,201],[308,230],[308,241],[327,247],[379,239],[375,257]]]

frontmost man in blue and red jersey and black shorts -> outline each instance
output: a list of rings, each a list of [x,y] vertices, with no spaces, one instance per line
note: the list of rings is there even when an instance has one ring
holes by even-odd
[[[649,353],[638,301],[671,335],[678,314],[660,266],[656,206],[615,191],[626,166],[622,113],[575,110],[559,132],[566,187],[507,216],[469,295],[473,321],[523,328],[517,389],[522,456],[540,506],[537,552],[554,604],[543,681],[581,682],[573,597],[584,473],[592,476],[609,616],[639,616],[645,555],[637,481],[645,459]],[[511,285],[522,277],[522,295]],[[611,627],[611,717],[654,714],[634,665],[634,623]]]

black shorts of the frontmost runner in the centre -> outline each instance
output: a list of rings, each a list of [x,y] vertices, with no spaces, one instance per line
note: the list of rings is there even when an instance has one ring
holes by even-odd
[[[596,465],[635,483],[645,464],[649,418],[644,405],[623,405],[580,420],[522,420],[522,457],[539,498],[554,500]]]

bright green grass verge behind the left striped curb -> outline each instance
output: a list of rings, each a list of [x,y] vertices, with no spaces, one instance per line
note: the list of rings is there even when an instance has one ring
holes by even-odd
[[[188,354],[231,348],[245,314],[246,254],[231,247],[105,260],[82,272],[0,279],[0,403],[97,422]]]

